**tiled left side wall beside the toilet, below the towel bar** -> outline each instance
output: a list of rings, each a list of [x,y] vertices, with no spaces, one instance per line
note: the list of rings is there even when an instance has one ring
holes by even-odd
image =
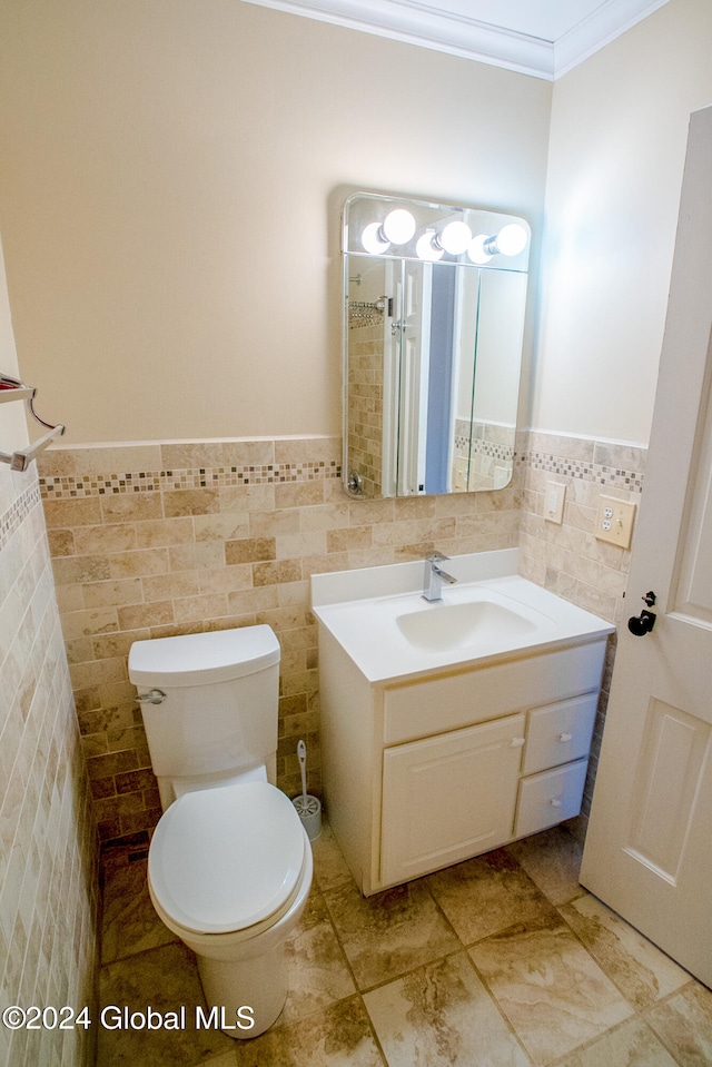
[[[0,467],[2,1007],[92,1005],[98,840],[33,470]],[[91,1031],[0,1027],[0,1064],[92,1061]]]

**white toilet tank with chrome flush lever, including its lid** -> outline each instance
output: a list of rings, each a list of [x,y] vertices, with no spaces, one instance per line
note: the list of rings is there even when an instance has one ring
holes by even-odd
[[[141,701],[154,773],[198,778],[265,763],[277,750],[279,642],[270,626],[135,641],[129,678]]]

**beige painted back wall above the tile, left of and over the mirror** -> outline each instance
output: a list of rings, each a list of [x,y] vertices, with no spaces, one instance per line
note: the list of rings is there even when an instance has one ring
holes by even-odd
[[[3,12],[10,300],[67,443],[339,433],[354,189],[540,228],[544,81],[239,0]]]

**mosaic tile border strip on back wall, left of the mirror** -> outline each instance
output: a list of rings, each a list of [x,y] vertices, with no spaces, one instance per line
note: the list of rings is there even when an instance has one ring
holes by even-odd
[[[78,500],[126,493],[158,493],[161,490],[220,488],[269,485],[284,482],[314,482],[340,478],[342,467],[330,463],[269,463],[250,466],[197,467],[172,471],[138,471],[125,474],[85,474],[41,477],[47,500]]]

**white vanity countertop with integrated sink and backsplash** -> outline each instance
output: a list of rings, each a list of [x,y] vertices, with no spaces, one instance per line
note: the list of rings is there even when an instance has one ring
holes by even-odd
[[[611,633],[609,623],[516,574],[516,549],[471,553],[447,563],[457,581],[435,604],[423,599],[424,562],[312,576],[319,641],[335,640],[372,682]]]

